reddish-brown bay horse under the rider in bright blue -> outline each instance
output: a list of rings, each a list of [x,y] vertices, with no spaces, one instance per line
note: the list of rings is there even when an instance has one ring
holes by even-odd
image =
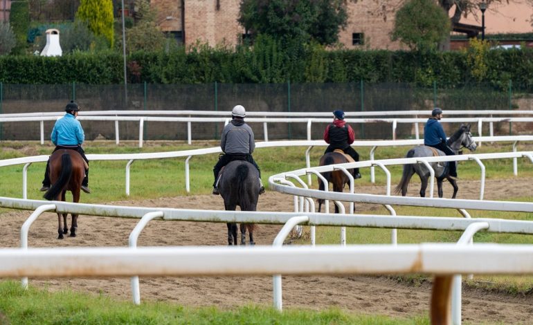
[[[66,191],[72,193],[72,201],[80,202],[80,189],[85,176],[85,161],[78,151],[71,149],[61,149],[55,151],[49,160],[49,173],[52,186],[44,194],[48,201],[65,201]],[[57,239],[63,239],[68,228],[66,226],[67,213],[57,213]],[[78,228],[78,214],[71,214],[71,237],[76,236]],[[62,218],[63,217],[63,220]],[[63,221],[63,223],[62,223]]]

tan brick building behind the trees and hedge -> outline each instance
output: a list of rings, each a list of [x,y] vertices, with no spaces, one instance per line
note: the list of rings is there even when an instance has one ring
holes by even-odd
[[[346,48],[379,48],[395,50],[398,42],[390,41],[394,12],[399,0],[348,1],[348,21],[339,32]],[[197,41],[237,44],[244,28],[237,22],[240,0],[152,0],[157,9],[159,26],[186,45]]]

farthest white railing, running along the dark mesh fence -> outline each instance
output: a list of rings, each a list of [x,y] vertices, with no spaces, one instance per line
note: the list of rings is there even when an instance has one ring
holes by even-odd
[[[188,113],[184,113],[188,112]],[[476,111],[446,111],[447,115],[468,115],[464,112],[476,112]],[[475,123],[478,125],[478,136],[482,136],[482,125],[483,123],[489,123],[489,136],[494,136],[494,122],[533,122],[533,117],[526,118],[517,118],[517,117],[491,117],[492,115],[531,115],[533,111],[496,111],[499,113],[484,113],[484,112],[495,112],[495,111],[478,111],[478,113],[471,113],[476,115],[476,117],[462,117],[462,118],[444,118],[441,122],[465,122],[465,123]],[[512,114],[506,114],[505,112],[514,112]],[[100,115],[95,115],[96,113],[101,113]],[[132,113],[136,113],[139,116],[129,116]],[[394,116],[394,115],[427,115],[426,111],[388,111],[388,112],[353,112],[353,116],[371,116],[371,115],[380,115],[380,116]],[[418,114],[419,113],[419,114]],[[44,144],[44,121],[53,121],[60,118],[64,113],[22,113],[22,114],[1,114],[1,122],[39,122],[40,125],[40,140],[41,144]],[[262,123],[263,124],[263,138],[264,141],[269,141],[268,136],[268,123],[306,123],[307,124],[307,140],[311,140],[311,125],[313,123],[329,123],[332,121],[331,118],[309,118],[309,116],[324,116],[331,115],[331,113],[279,113],[279,112],[249,112],[249,116],[269,116],[268,118],[246,118],[246,122],[249,123]],[[113,116],[109,116],[113,115]],[[128,116],[121,116],[128,115]],[[208,115],[215,117],[169,117],[169,116],[150,116],[150,115]],[[218,116],[226,116],[218,117]],[[275,118],[273,116],[282,115],[283,118]],[[480,115],[489,115],[489,117],[480,116]],[[305,116],[302,118],[300,116]],[[195,112],[195,111],[98,111],[98,112],[81,112],[78,117],[79,120],[90,120],[90,121],[109,121],[114,122],[115,124],[115,142],[118,144],[120,142],[119,127],[118,122],[138,122],[138,145],[143,147],[144,140],[144,124],[145,122],[185,122],[187,123],[187,141],[188,144],[192,143],[192,123],[206,123],[206,122],[218,122],[227,124],[229,121],[228,112],[217,112],[217,111],[204,111],[204,112]],[[399,123],[409,123],[413,124],[415,128],[415,138],[419,139],[419,128],[420,124],[426,122],[426,118],[346,118],[347,122],[352,124],[357,123],[379,123],[385,122],[392,125],[392,140],[396,140],[396,129],[397,124]]]

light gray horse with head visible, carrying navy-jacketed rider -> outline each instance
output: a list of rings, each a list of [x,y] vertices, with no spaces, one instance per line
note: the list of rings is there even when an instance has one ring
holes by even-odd
[[[448,145],[453,152],[455,152],[455,154],[458,154],[460,149],[463,147],[469,149],[470,151],[475,151],[477,145],[472,138],[472,134],[470,133],[470,124],[461,124],[459,130],[453,133],[453,135],[446,141],[446,145]],[[407,152],[406,158],[431,157],[433,156],[432,149],[435,148],[424,145],[414,147]],[[438,149],[435,149],[435,151],[437,151],[439,156],[446,156],[444,152]],[[450,177],[449,168],[447,166],[448,163],[429,163],[429,165],[431,165],[431,168],[433,168],[435,171],[439,197],[442,198],[442,180],[446,178],[450,182],[451,186],[453,186],[453,196],[451,198],[455,198],[459,187],[457,186],[455,179]],[[409,181],[415,173],[418,174],[420,181],[422,182],[422,185],[420,186],[420,196],[426,196],[426,188],[428,187],[428,178],[430,174],[429,169],[422,164],[404,165],[404,173],[401,175],[401,180],[395,189],[395,193],[401,192],[401,196],[406,196]]]

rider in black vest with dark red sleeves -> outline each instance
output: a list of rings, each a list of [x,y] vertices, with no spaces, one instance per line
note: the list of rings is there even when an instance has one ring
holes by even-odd
[[[333,152],[335,149],[341,149],[345,154],[359,161],[359,154],[350,145],[354,143],[355,133],[350,125],[344,120],[344,112],[336,110],[333,112],[333,123],[327,125],[324,131],[324,141],[329,143],[324,154]],[[359,168],[354,168],[354,179],[361,178]]]

